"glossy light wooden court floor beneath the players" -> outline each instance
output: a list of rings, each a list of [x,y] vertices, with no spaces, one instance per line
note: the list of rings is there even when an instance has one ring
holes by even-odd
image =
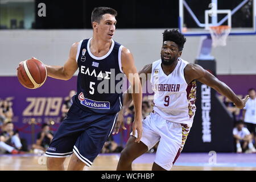
[[[85,167],[84,170],[93,171],[115,171],[118,155],[99,155],[94,160],[92,167]],[[64,166],[67,169],[70,158],[65,160]],[[152,163],[134,163],[134,171],[150,171]],[[0,171],[44,171],[46,170],[46,157],[44,156],[0,156]],[[256,171],[256,167],[209,167],[209,166],[174,166],[172,171]]]

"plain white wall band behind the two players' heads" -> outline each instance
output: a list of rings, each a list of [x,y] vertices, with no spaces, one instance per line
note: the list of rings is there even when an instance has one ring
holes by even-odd
[[[160,59],[163,31],[117,30],[114,40],[131,50],[139,70]],[[71,45],[91,36],[92,30],[1,30],[0,76],[16,75],[18,63],[32,56],[45,64],[63,65]],[[199,43],[199,37],[187,37],[181,57],[193,63]],[[217,74],[256,74],[256,36],[230,36],[227,46],[214,48],[212,55],[217,60]]]

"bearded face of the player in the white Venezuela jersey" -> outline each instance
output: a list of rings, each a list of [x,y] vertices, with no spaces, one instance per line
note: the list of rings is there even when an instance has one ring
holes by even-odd
[[[178,57],[180,57],[181,51],[175,42],[164,41],[161,51],[161,59],[164,65],[171,65]]]

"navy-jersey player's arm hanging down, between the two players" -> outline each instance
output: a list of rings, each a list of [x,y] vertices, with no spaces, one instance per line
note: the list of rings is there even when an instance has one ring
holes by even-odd
[[[134,122],[133,122],[133,135],[135,135],[135,130],[138,132],[138,137],[135,142],[141,140],[142,135],[142,87],[141,81],[139,80],[139,75],[137,69],[134,65],[133,55],[129,49],[123,47],[122,49],[122,70],[128,78],[132,92],[133,102],[134,102]]]

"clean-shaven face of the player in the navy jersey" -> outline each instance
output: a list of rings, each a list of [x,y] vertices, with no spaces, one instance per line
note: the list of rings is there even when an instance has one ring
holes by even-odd
[[[114,36],[117,20],[114,15],[105,14],[97,26],[97,34],[104,40],[110,40]]]

